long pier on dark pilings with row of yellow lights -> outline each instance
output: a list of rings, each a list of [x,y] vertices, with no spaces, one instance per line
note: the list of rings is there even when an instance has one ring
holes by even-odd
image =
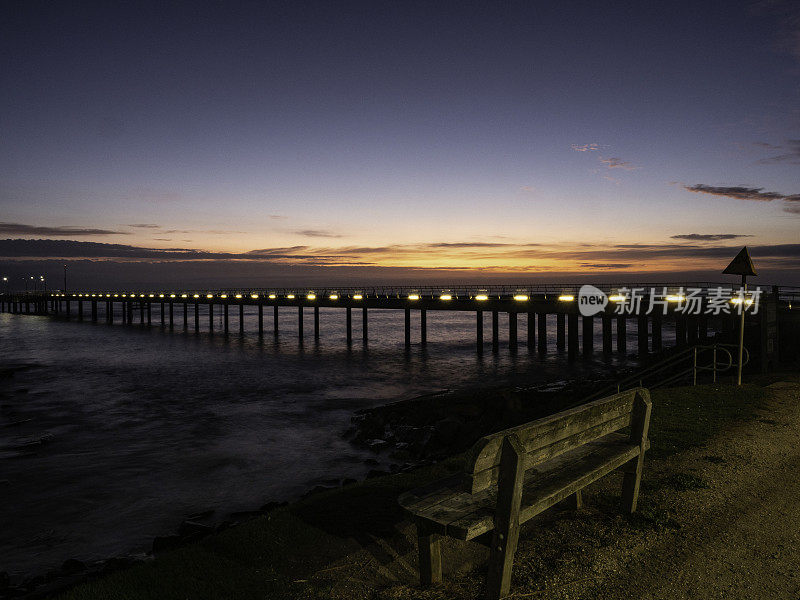
[[[699,314],[684,315],[676,310],[684,297],[682,290],[702,288],[730,289],[730,283],[694,282],[685,284],[607,284],[598,285],[610,301],[601,312],[584,316],[579,310],[577,285],[530,285],[439,288],[424,286],[337,288],[337,289],[238,289],[203,291],[88,291],[88,292],[30,292],[0,295],[3,312],[51,315],[59,318],[90,322],[119,323],[122,325],[157,325],[165,329],[193,328],[200,331],[206,326],[214,331],[215,315],[222,319],[222,332],[227,334],[236,327],[242,335],[264,337],[269,331],[266,319],[272,317],[271,335],[277,336],[278,317],[284,311],[297,315],[297,336],[301,343],[306,337],[320,339],[320,308],[341,309],[342,328],[348,346],[353,344],[353,312],[361,313],[362,343],[369,340],[369,315],[376,310],[404,312],[402,333],[406,349],[412,345],[426,346],[428,337],[428,311],[462,311],[475,315],[475,347],[479,353],[500,352],[501,341],[505,350],[518,352],[520,327],[524,327],[524,341],[528,353],[544,357],[548,353],[566,353],[569,360],[590,358],[595,354],[627,356],[628,336],[635,336],[635,355],[647,356],[665,349],[663,329],[672,321],[675,330],[674,345],[682,347],[705,342],[709,331],[731,333],[738,327],[735,310],[729,314],[706,314],[707,295],[699,299]],[[618,304],[622,290],[643,289],[641,305],[647,307],[653,298],[656,309],[650,314],[620,314]],[[731,303],[736,300],[732,296]],[[246,331],[244,311],[257,311],[257,327]],[[663,313],[666,307],[666,314]],[[747,316],[747,327],[757,328],[751,333],[753,342],[760,347],[764,361],[771,360],[778,346],[778,315],[800,314],[800,288],[770,287],[762,291],[759,311]],[[731,307],[733,308],[733,307]],[[271,310],[270,310],[271,309]],[[313,333],[304,329],[305,311],[313,312]],[[793,311],[793,312],[792,312]],[[412,315],[415,316],[412,319]],[[490,318],[487,318],[490,315]],[[505,325],[501,332],[502,322]],[[231,321],[233,320],[233,323]],[[785,320],[785,319],[784,319]],[[795,319],[796,320],[796,319]],[[412,321],[419,324],[412,328]],[[488,324],[487,324],[488,321]],[[595,324],[600,323],[596,339]],[[787,321],[794,327],[794,320]],[[486,328],[490,331],[486,332]],[[555,346],[549,343],[548,333],[555,328]],[[746,329],[747,330],[747,329]],[[794,330],[791,330],[794,331]],[[757,339],[755,339],[757,337]],[[488,340],[488,341],[487,341]]]

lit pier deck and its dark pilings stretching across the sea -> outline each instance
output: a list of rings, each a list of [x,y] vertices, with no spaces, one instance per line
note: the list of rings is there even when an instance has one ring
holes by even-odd
[[[666,288],[665,288],[666,289]],[[556,293],[529,293],[506,292],[490,293],[475,291],[474,293],[453,293],[449,291],[436,293],[406,292],[406,293],[367,293],[367,292],[339,292],[294,291],[269,292],[93,292],[93,293],[39,293],[39,294],[4,294],[0,295],[0,310],[6,312],[27,312],[36,314],[51,314],[57,316],[71,316],[72,304],[77,303],[77,317],[85,318],[84,305],[88,304],[91,321],[98,320],[98,305],[104,306],[104,318],[108,323],[113,323],[115,318],[115,305],[119,304],[121,320],[124,324],[133,324],[136,313],[140,324],[152,324],[153,305],[160,309],[160,324],[162,327],[175,326],[175,307],[182,309],[184,329],[189,328],[190,314],[196,331],[200,330],[200,306],[207,307],[208,327],[214,329],[215,307],[220,307],[222,314],[222,328],[229,331],[230,307],[238,307],[239,330],[244,333],[244,309],[246,306],[257,307],[258,310],[258,335],[264,335],[264,307],[273,309],[273,333],[278,335],[279,308],[294,307],[298,313],[298,335],[300,341],[304,338],[303,311],[306,308],[314,312],[314,339],[318,340],[319,309],[342,308],[345,310],[345,331],[347,343],[353,340],[352,311],[361,310],[363,341],[368,338],[368,309],[395,309],[405,312],[405,345],[411,346],[411,313],[419,313],[420,344],[427,343],[427,311],[428,310],[456,310],[476,313],[476,342],[477,349],[484,349],[484,312],[491,313],[491,345],[492,351],[499,351],[499,313],[508,315],[508,347],[513,352],[517,350],[517,328],[519,313],[527,314],[527,347],[529,352],[534,348],[544,356],[548,348],[548,315],[555,316],[556,350],[566,350],[570,359],[575,358],[579,348],[579,328],[582,330],[582,353],[591,356],[594,353],[594,319],[602,322],[602,352],[612,354],[614,342],[619,354],[627,354],[627,327],[628,321],[636,324],[637,353],[646,355],[650,351],[662,349],[662,326],[665,319],[675,322],[676,345],[693,344],[705,340],[708,336],[709,316],[701,311],[696,315],[683,315],[674,310],[683,299],[680,293],[670,293],[662,297],[666,300],[667,314],[653,312],[651,314],[616,314],[617,303],[624,300],[619,293],[611,293],[606,309],[596,316],[582,316],[579,314],[576,295],[572,292]],[[734,302],[735,299],[732,299]],[[673,306],[674,305],[674,306]],[[732,327],[732,318],[722,315],[723,329]],[[714,317],[717,318],[717,317]],[[551,319],[552,321],[552,319]],[[615,334],[615,335],[614,335]],[[538,339],[537,339],[538,337]]]

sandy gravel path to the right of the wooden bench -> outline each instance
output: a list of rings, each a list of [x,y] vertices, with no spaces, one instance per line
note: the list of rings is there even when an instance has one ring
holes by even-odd
[[[628,548],[570,597],[800,598],[800,385],[770,387],[756,421],[672,462],[708,485],[675,497],[680,528]]]

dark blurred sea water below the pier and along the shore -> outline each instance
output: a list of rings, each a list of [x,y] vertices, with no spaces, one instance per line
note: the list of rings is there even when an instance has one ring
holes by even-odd
[[[429,311],[427,348],[405,352],[402,311],[370,312],[368,348],[354,312],[350,350],[344,311],[320,312],[319,343],[306,311],[302,345],[297,312],[288,309],[277,339],[265,312],[261,341],[255,313],[246,313],[242,336],[235,310],[229,335],[219,317],[209,333],[207,315],[200,333],[191,314],[184,331],[181,311],[173,331],[156,324],[157,312],[151,327],[123,326],[119,315],[114,325],[0,315],[2,366],[20,367],[0,379],[0,571],[145,551],[192,513],[253,510],[332,479],[361,478],[373,455],[342,438],[359,408],[603,369],[529,355],[524,315],[516,355],[502,343],[501,317],[500,353],[487,346],[480,357],[474,313]]]

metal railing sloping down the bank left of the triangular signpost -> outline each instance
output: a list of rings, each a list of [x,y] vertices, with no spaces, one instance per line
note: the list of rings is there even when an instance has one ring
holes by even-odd
[[[598,390],[581,402],[589,402],[633,387],[657,388],[689,380],[692,385],[697,385],[697,376],[702,373],[711,373],[711,381],[716,383],[721,373],[736,366],[734,355],[738,349],[736,344],[690,346]],[[749,362],[750,353],[744,348],[743,365]]]

